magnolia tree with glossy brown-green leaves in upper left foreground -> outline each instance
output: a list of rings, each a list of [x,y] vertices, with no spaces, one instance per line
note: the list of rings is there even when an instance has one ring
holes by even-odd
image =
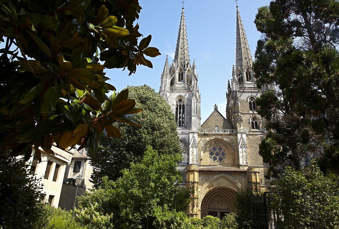
[[[0,150],[28,160],[34,145],[53,153],[89,143],[99,135],[121,137],[115,122],[141,109],[116,95],[105,68],[152,67],[146,56],[160,55],[141,39],[138,0],[1,0],[0,5]],[[101,61],[100,64],[99,61]],[[112,98],[106,93],[113,91]],[[105,103],[105,106],[102,104]]]

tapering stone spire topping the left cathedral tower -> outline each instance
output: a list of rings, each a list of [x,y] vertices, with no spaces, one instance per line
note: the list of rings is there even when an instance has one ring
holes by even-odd
[[[179,26],[179,34],[177,40],[177,47],[175,49],[174,62],[178,65],[180,61],[187,66],[187,63],[190,62],[190,57],[188,56],[188,42],[187,42],[187,34],[186,34],[186,22],[185,22],[185,13],[184,8],[182,8],[180,26]]]

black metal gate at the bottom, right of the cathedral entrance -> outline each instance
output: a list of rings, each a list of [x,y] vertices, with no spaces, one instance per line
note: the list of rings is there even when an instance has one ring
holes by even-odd
[[[254,229],[279,229],[280,215],[272,204],[272,192],[263,197],[252,197],[252,220]]]

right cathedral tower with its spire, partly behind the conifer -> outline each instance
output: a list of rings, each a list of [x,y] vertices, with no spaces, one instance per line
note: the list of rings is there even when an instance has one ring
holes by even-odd
[[[266,134],[265,120],[257,113],[255,99],[266,87],[257,88],[252,68],[253,59],[245,29],[237,6],[236,61],[232,70],[232,82],[227,85],[227,121],[237,130],[239,165],[241,168],[262,167],[258,145]],[[262,172],[263,174],[264,172]]]

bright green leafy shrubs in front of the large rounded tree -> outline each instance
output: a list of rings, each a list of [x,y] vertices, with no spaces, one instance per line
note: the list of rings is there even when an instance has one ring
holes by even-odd
[[[131,163],[117,181],[105,177],[98,189],[79,198],[78,221],[100,228],[155,228],[154,222],[167,221],[162,217],[177,217],[168,213],[168,206],[174,203],[173,183],[182,179],[180,159],[181,154],[160,154],[147,147],[143,159]]]

